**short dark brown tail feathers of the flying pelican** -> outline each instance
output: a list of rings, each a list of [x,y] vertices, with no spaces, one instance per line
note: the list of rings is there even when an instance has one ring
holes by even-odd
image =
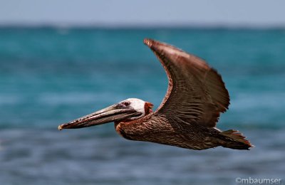
[[[245,137],[237,130],[229,129],[220,133],[223,138],[222,147],[231,149],[249,149],[254,147]]]

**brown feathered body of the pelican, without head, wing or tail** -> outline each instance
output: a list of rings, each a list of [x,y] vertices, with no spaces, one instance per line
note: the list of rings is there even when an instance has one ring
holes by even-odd
[[[175,119],[177,117],[173,117],[173,120]],[[222,144],[219,143],[221,132],[217,129],[199,125],[181,127],[173,120],[154,114],[143,117],[140,122],[115,123],[115,129],[125,139],[156,142],[187,149],[208,149]]]

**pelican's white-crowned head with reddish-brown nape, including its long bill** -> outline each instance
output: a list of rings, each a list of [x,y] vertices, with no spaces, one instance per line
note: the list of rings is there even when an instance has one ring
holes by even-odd
[[[58,126],[58,129],[77,129],[101,125],[107,122],[128,122],[138,120],[152,112],[152,103],[138,98],[129,98],[106,107],[103,110],[93,112],[90,115],[80,117],[68,123]]]

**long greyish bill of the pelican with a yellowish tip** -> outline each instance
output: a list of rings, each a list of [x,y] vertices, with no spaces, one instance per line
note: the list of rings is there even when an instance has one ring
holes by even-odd
[[[68,123],[58,126],[58,129],[78,129],[83,127],[91,127],[101,125],[108,122],[115,122],[127,119],[128,117],[138,116],[140,112],[136,112],[132,108],[122,108],[118,104],[106,107],[103,110],[93,112],[90,115],[80,117]]]

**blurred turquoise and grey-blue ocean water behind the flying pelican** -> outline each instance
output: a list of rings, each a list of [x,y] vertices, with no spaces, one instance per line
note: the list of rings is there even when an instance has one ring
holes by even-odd
[[[63,130],[128,97],[160,105],[167,77],[143,38],[207,60],[231,96],[219,129],[250,151],[132,142],[113,124]],[[0,28],[0,184],[237,184],[285,176],[285,31]]]

